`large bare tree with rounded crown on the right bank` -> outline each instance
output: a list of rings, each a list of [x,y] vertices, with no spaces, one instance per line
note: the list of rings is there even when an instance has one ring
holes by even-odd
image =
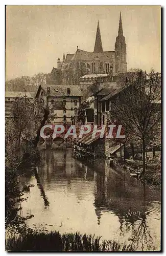
[[[146,145],[155,129],[157,132],[161,119],[160,104],[157,103],[161,98],[160,87],[160,76],[153,70],[150,74],[141,70],[130,72],[111,104],[111,120],[120,122],[128,135],[135,136],[143,144],[142,174],[145,174]]]

